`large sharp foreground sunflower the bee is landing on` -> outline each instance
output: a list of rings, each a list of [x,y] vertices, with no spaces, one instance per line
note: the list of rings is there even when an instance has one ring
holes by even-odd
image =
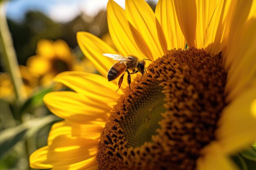
[[[113,0],[107,16],[118,51],[77,33],[83,53],[103,75],[65,72],[45,104],[64,120],[32,168],[68,170],[235,170],[230,159],[256,134],[256,1]],[[185,49],[186,44],[188,48]],[[106,75],[103,53],[150,59],[131,90]],[[126,86],[126,88],[124,88]]]

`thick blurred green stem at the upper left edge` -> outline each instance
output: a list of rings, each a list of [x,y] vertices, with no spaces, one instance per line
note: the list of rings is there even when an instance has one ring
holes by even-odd
[[[7,24],[4,1],[0,2],[0,52],[4,61],[6,71],[10,74],[13,82],[14,92],[18,101],[26,98],[25,88],[20,75],[20,69],[13,48],[11,33]]]

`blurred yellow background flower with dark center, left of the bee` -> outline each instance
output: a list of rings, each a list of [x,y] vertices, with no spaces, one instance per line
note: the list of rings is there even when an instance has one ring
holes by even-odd
[[[43,84],[58,73],[76,70],[76,64],[78,62],[65,41],[40,40],[36,55],[29,57],[26,65],[32,73],[41,76],[40,84]]]

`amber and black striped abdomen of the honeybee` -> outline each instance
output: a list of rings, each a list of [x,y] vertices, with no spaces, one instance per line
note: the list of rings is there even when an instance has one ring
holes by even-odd
[[[116,62],[108,71],[108,81],[116,79],[126,70],[125,62]]]

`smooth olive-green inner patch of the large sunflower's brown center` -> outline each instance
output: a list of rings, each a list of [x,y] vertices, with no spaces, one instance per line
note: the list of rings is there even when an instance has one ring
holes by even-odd
[[[150,88],[145,88],[143,94],[138,93],[136,97],[130,95],[128,99],[124,97],[122,100],[121,114],[125,114],[127,121],[121,121],[120,126],[124,130],[128,147],[152,141],[151,137],[160,128],[158,122],[162,119],[161,113],[166,111],[166,102],[164,93],[161,93],[162,87],[158,84],[157,81],[150,83]]]

